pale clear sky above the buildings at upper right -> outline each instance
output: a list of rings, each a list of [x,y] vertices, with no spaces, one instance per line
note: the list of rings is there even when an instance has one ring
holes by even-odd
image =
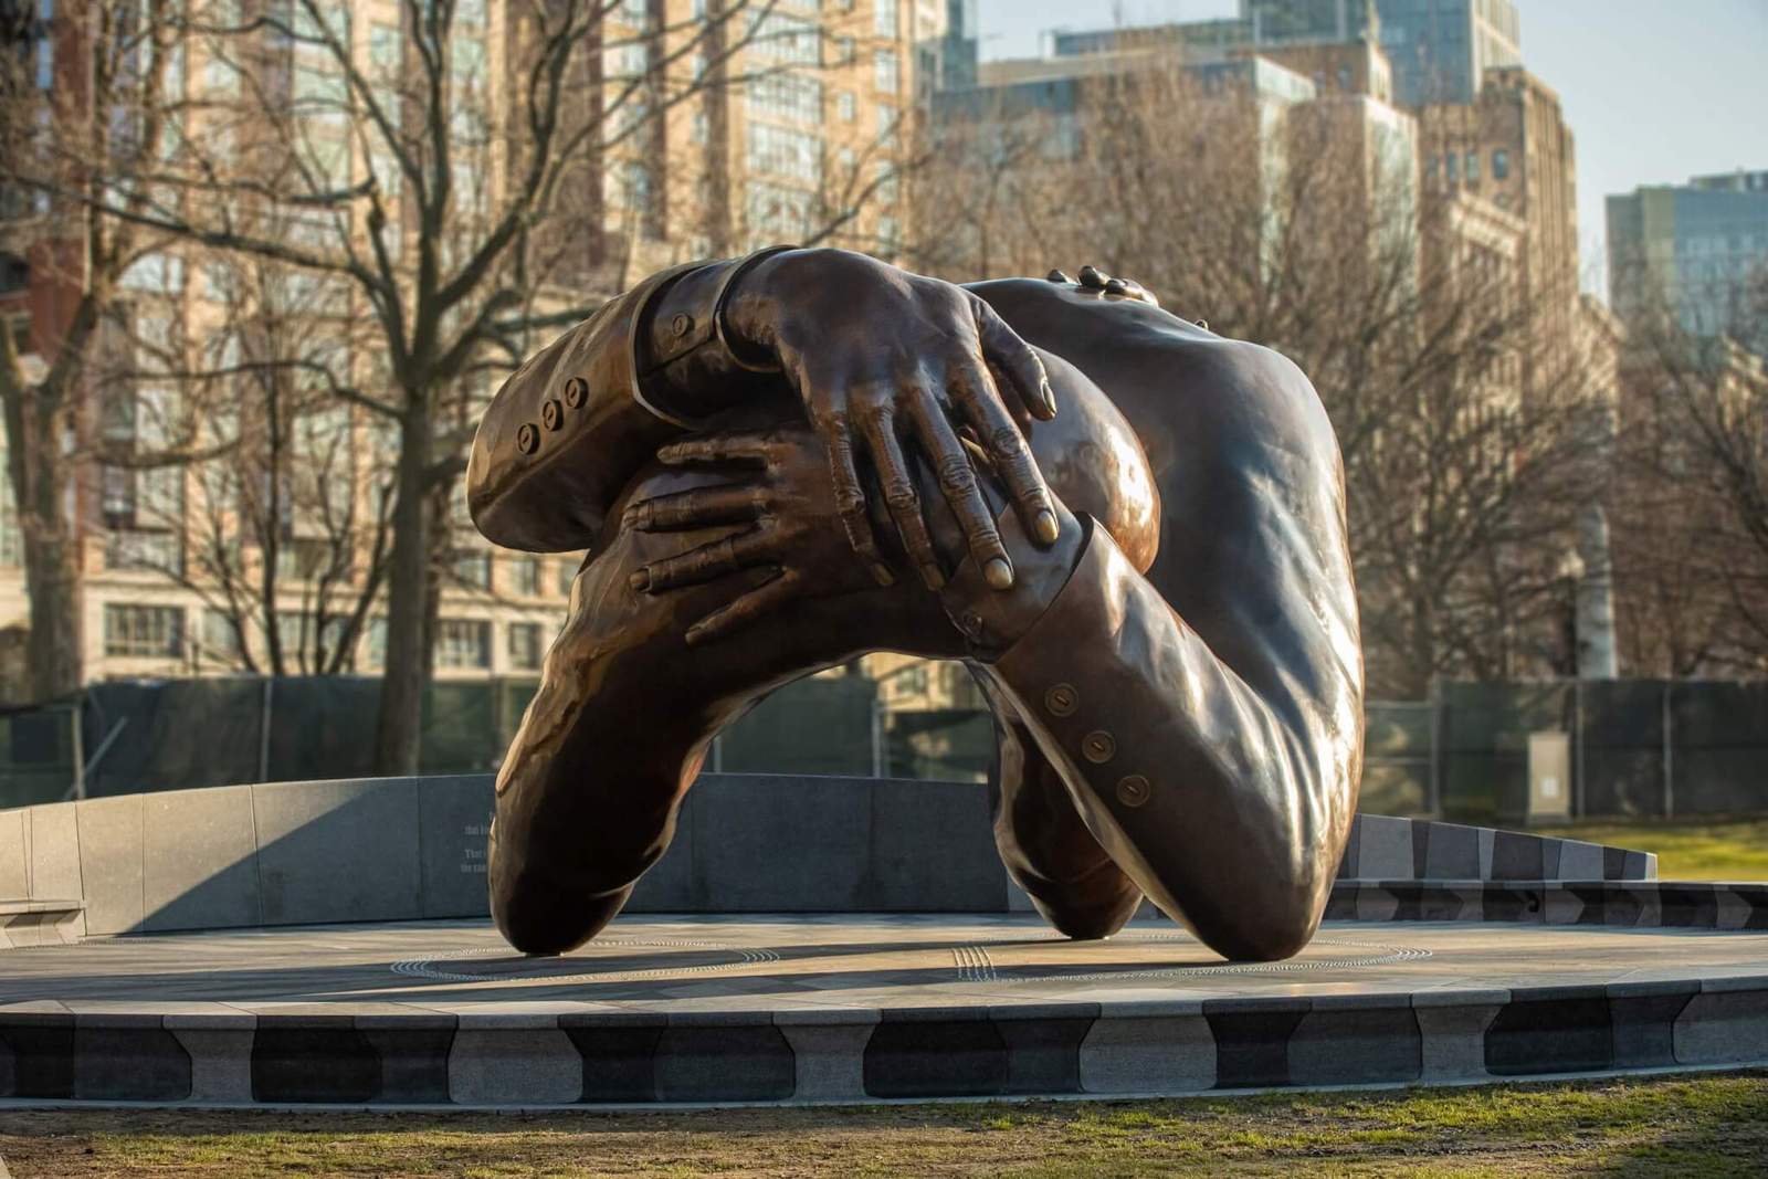
[[[1522,62],[1558,90],[1577,141],[1584,283],[1605,295],[1605,194],[1768,170],[1768,0],[1519,0],[1517,9]],[[1234,0],[981,0],[981,53],[1033,57],[1047,28],[1234,11]]]

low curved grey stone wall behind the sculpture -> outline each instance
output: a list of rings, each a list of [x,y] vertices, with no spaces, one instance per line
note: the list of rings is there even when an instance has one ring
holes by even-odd
[[[0,811],[0,898],[83,933],[486,914],[492,778],[283,781]],[[1648,880],[1657,857],[1360,815],[1342,880]],[[629,912],[1029,909],[979,783],[704,774]]]

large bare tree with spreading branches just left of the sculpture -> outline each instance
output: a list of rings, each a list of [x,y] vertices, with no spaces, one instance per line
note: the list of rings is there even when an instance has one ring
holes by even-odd
[[[385,380],[331,392],[394,440],[385,564],[382,772],[417,760],[446,527],[479,408],[537,332],[582,318],[631,253],[605,205],[644,205],[668,111],[820,53],[773,0],[667,23],[631,0],[403,0],[377,25],[327,0],[164,12],[214,83],[179,108],[173,150],[95,179],[95,216],[186,247],[249,255],[336,286]]]

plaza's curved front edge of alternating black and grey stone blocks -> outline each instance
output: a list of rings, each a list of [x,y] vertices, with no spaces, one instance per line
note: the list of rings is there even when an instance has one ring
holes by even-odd
[[[1768,1061],[1768,979],[1156,1002],[0,1015],[0,1098],[571,1105],[1174,1094]],[[518,1006],[518,1004],[504,1004]],[[212,1008],[212,1009],[210,1009]]]

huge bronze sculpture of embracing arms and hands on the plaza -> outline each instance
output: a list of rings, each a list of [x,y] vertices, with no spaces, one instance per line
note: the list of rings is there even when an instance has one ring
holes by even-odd
[[[591,548],[497,780],[513,946],[594,937],[718,730],[877,649],[979,677],[997,845],[1055,928],[1146,893],[1231,958],[1307,944],[1363,739],[1331,426],[1278,354],[1080,279],[762,251],[645,279],[506,384],[476,523]]]

